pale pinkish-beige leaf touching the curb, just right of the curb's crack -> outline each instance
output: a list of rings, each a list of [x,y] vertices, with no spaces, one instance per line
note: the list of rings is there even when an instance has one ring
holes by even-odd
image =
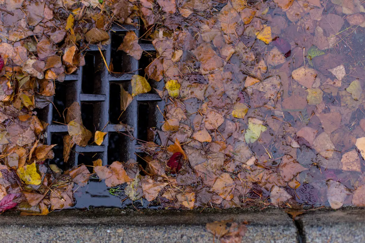
[[[331,208],[341,208],[347,196],[348,189],[338,181],[334,180],[328,180],[326,184],[328,186],[327,199]]]

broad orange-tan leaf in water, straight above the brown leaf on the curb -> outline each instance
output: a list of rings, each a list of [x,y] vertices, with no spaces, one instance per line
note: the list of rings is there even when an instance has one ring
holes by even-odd
[[[222,173],[215,183],[211,191],[217,193],[223,199],[230,201],[233,199],[234,188],[236,184],[228,173]]]

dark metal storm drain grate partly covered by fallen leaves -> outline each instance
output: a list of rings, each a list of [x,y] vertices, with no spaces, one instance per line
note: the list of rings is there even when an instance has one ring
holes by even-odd
[[[135,138],[146,141],[148,129],[158,126],[159,121],[162,120],[157,105],[163,109],[164,101],[158,94],[153,93],[153,89],[150,93],[134,97],[119,118],[120,87],[123,86],[125,90],[132,93],[130,82],[132,75],[144,76],[144,68],[150,63],[149,57],[155,55],[153,45],[143,41],[139,43],[144,50],[141,60],[136,60],[123,51],[116,51],[127,31],[134,31],[137,36],[140,32],[134,26],[113,26],[110,31],[111,43],[101,49],[108,66],[112,62],[114,71],[126,74],[109,73],[98,47],[90,45],[89,50],[85,52],[85,66],[80,67],[76,74],[66,75],[63,83],[57,82],[55,85],[56,93],[53,103],[60,113],[77,101],[81,107],[84,126],[92,132],[100,131],[105,127],[103,132],[108,132],[100,146],[95,144],[85,147],[74,146],[68,160],[69,167],[81,163],[92,164],[92,161],[98,158],[103,161],[103,165],[117,160],[127,161],[129,158],[137,160],[138,141],[120,132],[132,134]],[[164,86],[164,82],[149,80],[149,83],[152,88],[162,89]],[[58,144],[54,148],[54,160],[56,164],[64,167],[62,166],[62,137],[68,131],[67,125],[59,124],[64,122],[64,118],[59,116],[53,104],[50,103],[43,109],[43,120],[50,124],[45,134],[47,144]],[[127,132],[124,126],[118,125],[119,122],[129,125],[133,130]],[[106,124],[108,125],[105,126]]]

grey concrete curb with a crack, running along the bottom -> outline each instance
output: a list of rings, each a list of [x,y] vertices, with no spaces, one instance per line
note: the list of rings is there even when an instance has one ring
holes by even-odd
[[[365,210],[310,211],[295,222],[279,209],[152,211],[94,209],[0,216],[0,242],[213,242],[205,224],[247,220],[242,242],[365,242]]]

